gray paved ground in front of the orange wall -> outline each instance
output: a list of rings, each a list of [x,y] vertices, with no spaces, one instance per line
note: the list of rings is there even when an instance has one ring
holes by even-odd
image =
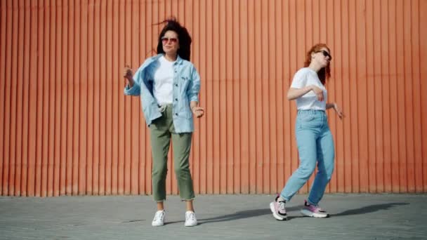
[[[427,194],[327,194],[331,218],[299,210],[272,218],[272,195],[198,195],[199,225],[184,227],[185,204],[168,196],[166,224],[152,227],[151,196],[0,196],[0,239],[427,239]]]

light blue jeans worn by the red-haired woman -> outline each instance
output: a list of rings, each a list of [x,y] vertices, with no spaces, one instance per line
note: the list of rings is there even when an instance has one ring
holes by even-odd
[[[327,115],[324,111],[298,110],[295,128],[300,164],[280,196],[287,201],[291,200],[313,174],[317,163],[318,171],[307,199],[309,204],[317,205],[334,172],[334,140]]]

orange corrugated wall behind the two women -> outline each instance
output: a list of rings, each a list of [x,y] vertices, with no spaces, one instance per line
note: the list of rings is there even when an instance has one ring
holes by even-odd
[[[202,76],[197,193],[282,189],[298,166],[285,95],[317,42],[331,48],[329,100],[346,114],[329,111],[327,191],[427,192],[427,1],[2,0],[0,9],[1,195],[151,194],[147,128],[121,74],[152,55],[153,24],[170,15],[192,34]],[[173,171],[167,182],[176,194]]]

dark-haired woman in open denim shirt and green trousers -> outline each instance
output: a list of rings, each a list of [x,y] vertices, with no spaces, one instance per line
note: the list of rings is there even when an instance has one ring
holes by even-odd
[[[124,69],[125,95],[140,95],[145,122],[152,145],[152,192],[157,212],[152,226],[164,225],[166,172],[169,146],[173,144],[174,171],[180,198],[186,201],[185,226],[197,225],[192,201],[195,193],[190,173],[190,147],[194,131],[193,115],[201,117],[198,107],[200,77],[190,62],[191,37],[175,19],[165,20],[159,34],[157,53],[145,60],[133,75]]]

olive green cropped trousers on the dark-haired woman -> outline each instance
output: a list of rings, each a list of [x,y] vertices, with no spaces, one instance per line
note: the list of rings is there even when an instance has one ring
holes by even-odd
[[[172,105],[166,105],[162,116],[150,124],[152,190],[153,197],[157,202],[166,199],[167,160],[171,138],[173,170],[176,173],[180,198],[182,200],[195,198],[189,162],[192,133],[176,133],[173,127],[172,114]]]

